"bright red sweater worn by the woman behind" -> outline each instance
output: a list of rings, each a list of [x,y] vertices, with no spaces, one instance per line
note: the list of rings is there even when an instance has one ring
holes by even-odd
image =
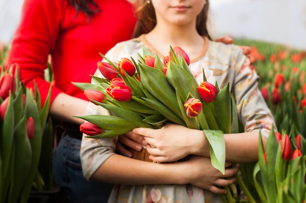
[[[90,82],[97,62],[116,43],[131,38],[136,19],[127,0],[96,0],[101,12],[87,20],[67,0],[24,0],[8,64],[18,63],[22,82],[38,85],[43,103],[50,83],[44,70],[51,55],[54,74],[51,103],[60,93],[86,99],[71,82]]]

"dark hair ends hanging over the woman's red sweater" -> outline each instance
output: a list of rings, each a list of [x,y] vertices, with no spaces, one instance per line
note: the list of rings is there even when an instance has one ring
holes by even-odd
[[[94,0],[67,0],[77,10],[84,12],[87,17],[93,17],[95,13],[99,12],[99,5]]]

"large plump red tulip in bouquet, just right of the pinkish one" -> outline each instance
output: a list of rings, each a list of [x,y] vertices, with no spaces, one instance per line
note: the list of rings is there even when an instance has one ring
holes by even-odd
[[[122,102],[129,101],[132,97],[131,88],[120,83],[111,84],[106,92],[115,100]]]

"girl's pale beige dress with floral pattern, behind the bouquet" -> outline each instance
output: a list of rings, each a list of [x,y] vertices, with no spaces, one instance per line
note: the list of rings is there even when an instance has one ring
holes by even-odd
[[[274,118],[258,89],[259,77],[251,68],[249,59],[243,55],[239,46],[213,42],[204,37],[205,44],[198,57],[191,59],[190,69],[198,82],[203,81],[203,68],[207,81],[217,81],[222,89],[228,82],[236,100],[236,106],[244,131],[259,131],[268,136]],[[141,46],[157,53],[142,35],[129,41],[118,43],[106,56],[118,62],[122,57],[137,59],[143,55]],[[97,76],[102,74],[97,70]],[[109,114],[100,106],[88,105],[87,114]],[[276,128],[275,128],[276,129]],[[81,160],[85,177],[91,175],[109,156],[115,154],[117,137],[91,139],[83,137]],[[146,151],[135,153],[133,158],[145,160]],[[179,178],[179,177],[177,177]],[[219,195],[203,190],[194,185],[115,185],[109,203],[221,203]]]

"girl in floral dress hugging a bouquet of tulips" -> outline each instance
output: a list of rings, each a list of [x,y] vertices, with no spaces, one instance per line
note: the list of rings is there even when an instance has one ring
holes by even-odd
[[[135,37],[117,44],[106,56],[118,62],[122,57],[137,60],[141,45],[160,57],[168,55],[170,45],[181,47],[191,58],[190,68],[197,80],[217,81],[220,88],[229,82],[235,95],[239,118],[245,132],[224,134],[226,160],[255,162],[258,159],[259,129],[266,141],[274,119],[258,89],[258,75],[240,47],[213,42],[207,32],[208,0],[138,0],[138,22]],[[98,71],[96,75],[102,76]],[[90,104],[88,114],[107,114]],[[81,160],[88,180],[116,185],[109,203],[141,202],[220,202],[219,186],[235,181],[230,177],[238,166],[221,175],[210,164],[209,145],[202,130],[168,124],[162,129],[134,129],[131,134],[143,135],[150,158],[156,164],[115,154],[117,138],[90,139],[83,137]],[[187,135],[187,136],[186,136]],[[156,148],[150,148],[151,144]],[[185,162],[173,162],[193,154]],[[230,163],[229,163],[230,164]]]

